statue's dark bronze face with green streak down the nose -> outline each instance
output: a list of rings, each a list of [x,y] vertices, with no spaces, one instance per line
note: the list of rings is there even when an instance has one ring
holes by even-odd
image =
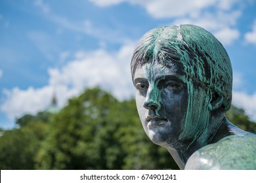
[[[175,146],[188,108],[185,73],[175,64],[146,63],[135,71],[136,103],[146,135],[161,146]]]

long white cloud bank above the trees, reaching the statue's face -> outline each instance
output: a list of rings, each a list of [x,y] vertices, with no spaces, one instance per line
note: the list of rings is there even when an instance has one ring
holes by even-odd
[[[50,105],[53,92],[58,105],[63,107],[68,98],[95,86],[113,93],[118,99],[129,98],[133,95],[130,60],[134,48],[135,44],[129,43],[113,53],[103,49],[77,52],[75,59],[60,69],[49,69],[47,86],[28,90],[5,89],[6,99],[0,110],[11,119],[26,113],[35,114]]]

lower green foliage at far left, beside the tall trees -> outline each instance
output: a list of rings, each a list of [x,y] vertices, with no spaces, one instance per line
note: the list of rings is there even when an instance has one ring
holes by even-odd
[[[34,169],[34,157],[43,141],[45,124],[30,123],[3,131],[0,137],[0,169]]]

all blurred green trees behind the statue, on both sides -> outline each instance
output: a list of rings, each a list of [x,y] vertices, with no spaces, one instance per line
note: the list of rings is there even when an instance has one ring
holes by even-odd
[[[255,130],[239,108],[226,116]],[[16,124],[0,131],[1,169],[179,169],[146,137],[135,100],[118,101],[100,88],[70,99],[58,114],[27,114]]]

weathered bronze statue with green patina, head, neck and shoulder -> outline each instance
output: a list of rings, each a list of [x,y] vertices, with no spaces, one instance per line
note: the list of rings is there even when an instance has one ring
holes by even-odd
[[[140,120],[180,169],[256,169],[256,135],[225,117],[232,99],[226,50],[196,25],[157,27],[131,60]]]

